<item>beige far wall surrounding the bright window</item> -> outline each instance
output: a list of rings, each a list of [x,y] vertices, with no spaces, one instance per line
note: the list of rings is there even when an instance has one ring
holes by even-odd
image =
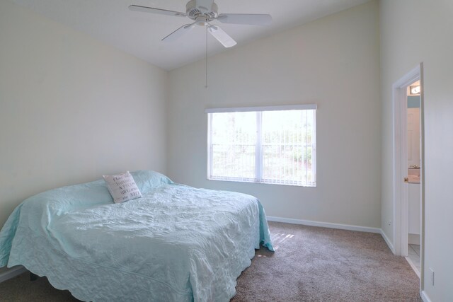
[[[268,216],[380,227],[377,1],[170,72],[168,175],[246,192]],[[316,103],[317,187],[206,180],[206,108]]]

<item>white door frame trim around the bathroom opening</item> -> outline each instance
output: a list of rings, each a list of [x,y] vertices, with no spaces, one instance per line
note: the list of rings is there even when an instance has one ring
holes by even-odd
[[[407,87],[420,80],[420,289],[423,290],[425,262],[425,118],[423,63],[420,63],[392,86],[394,113],[394,253],[408,255],[408,186],[407,176]]]

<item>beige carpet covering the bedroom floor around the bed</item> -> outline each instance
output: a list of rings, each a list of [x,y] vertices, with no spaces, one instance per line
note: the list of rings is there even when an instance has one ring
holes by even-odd
[[[419,279],[374,233],[270,222],[275,253],[261,248],[238,279],[239,301],[422,301]],[[0,301],[77,301],[28,273],[0,284]]]

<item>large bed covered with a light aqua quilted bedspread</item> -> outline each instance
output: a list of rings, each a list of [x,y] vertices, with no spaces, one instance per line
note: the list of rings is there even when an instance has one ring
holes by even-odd
[[[256,197],[131,174],[142,197],[128,202],[104,180],[25,199],[0,232],[0,267],[83,301],[229,301],[255,249],[273,250]]]

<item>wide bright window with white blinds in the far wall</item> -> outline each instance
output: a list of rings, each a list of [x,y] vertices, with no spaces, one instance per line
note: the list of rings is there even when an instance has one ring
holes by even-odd
[[[206,112],[208,179],[316,187],[316,105]]]

